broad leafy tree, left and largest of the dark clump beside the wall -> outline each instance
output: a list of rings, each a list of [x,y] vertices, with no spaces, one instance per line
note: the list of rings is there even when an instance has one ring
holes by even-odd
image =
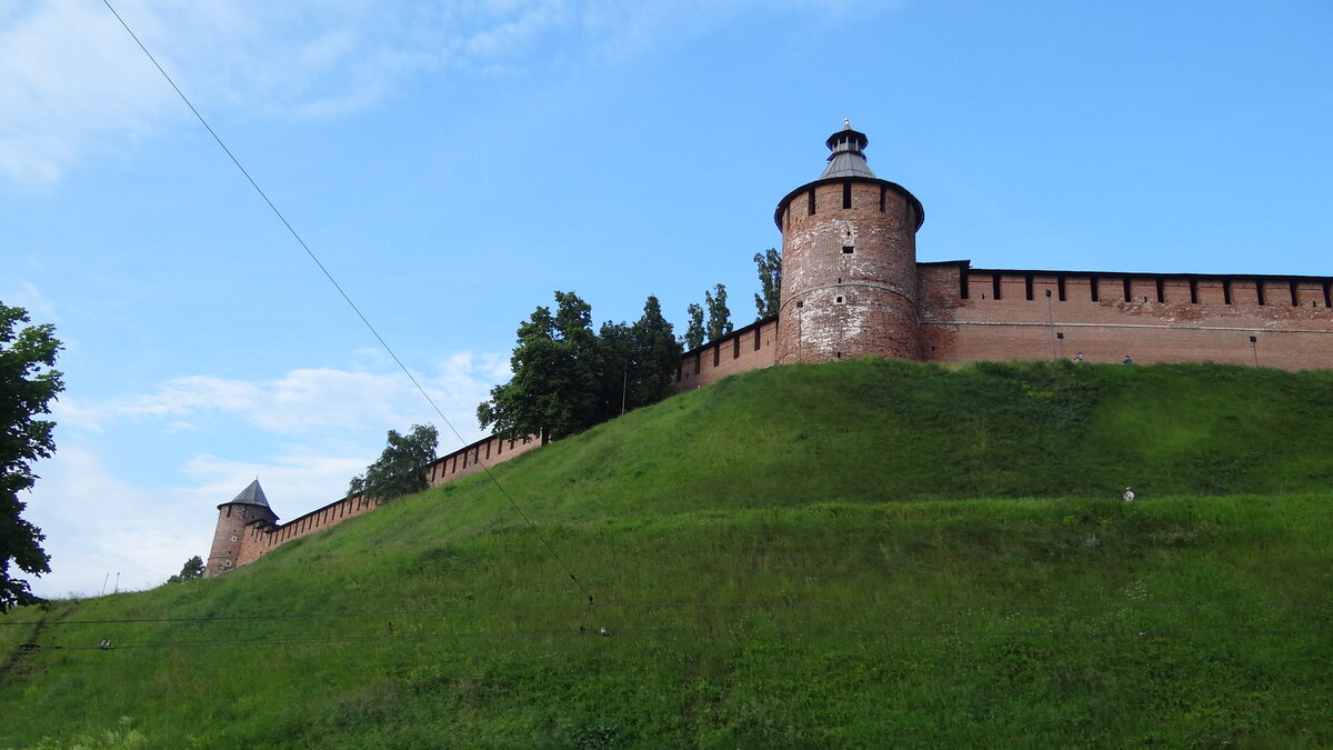
[[[592,307],[575,292],[556,292],[556,314],[537,307],[519,326],[509,358],[513,378],[477,406],[481,427],[505,438],[573,435],[600,422],[607,364],[592,331]]]

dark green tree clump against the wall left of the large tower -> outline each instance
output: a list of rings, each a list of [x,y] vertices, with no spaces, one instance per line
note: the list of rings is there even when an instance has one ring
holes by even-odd
[[[519,326],[509,358],[513,378],[477,406],[477,422],[497,435],[540,435],[545,443],[587,430],[673,390],[680,343],[657,298],[635,324],[592,330],[592,308],[575,292],[556,292],[556,312],[537,307]]]

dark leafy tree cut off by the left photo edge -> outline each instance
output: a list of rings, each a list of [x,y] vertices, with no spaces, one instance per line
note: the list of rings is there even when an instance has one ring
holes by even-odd
[[[49,323],[25,326],[28,311],[0,303],[0,613],[37,601],[27,581],[15,578],[9,566],[23,573],[51,573],[51,558],[41,548],[41,530],[21,518],[21,490],[31,490],[39,476],[32,462],[56,451],[56,423],[36,419],[51,414],[49,403],[64,390],[60,372],[52,370],[60,342]]]

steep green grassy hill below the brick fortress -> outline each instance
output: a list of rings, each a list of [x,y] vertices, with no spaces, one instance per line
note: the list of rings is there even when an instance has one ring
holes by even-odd
[[[473,478],[12,613],[0,747],[1329,746],[1329,415],[1330,372],[729,378],[496,467],[540,535]]]

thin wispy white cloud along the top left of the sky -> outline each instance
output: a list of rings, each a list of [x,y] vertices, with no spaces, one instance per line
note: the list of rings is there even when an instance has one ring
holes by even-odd
[[[423,71],[495,73],[573,56],[624,59],[744,13],[849,0],[116,0],[205,112],[332,117]],[[0,175],[55,184],[88,153],[152,137],[188,112],[100,3],[0,0]]]

